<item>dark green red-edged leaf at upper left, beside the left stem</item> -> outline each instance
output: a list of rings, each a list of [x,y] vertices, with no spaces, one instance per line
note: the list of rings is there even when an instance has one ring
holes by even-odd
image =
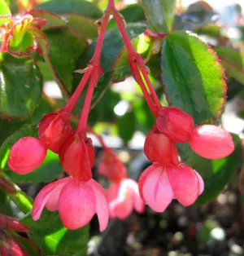
[[[45,60],[53,69],[57,82],[71,91],[76,61],[85,51],[88,42],[67,27],[47,29],[45,33],[50,46],[48,55],[44,56]]]

